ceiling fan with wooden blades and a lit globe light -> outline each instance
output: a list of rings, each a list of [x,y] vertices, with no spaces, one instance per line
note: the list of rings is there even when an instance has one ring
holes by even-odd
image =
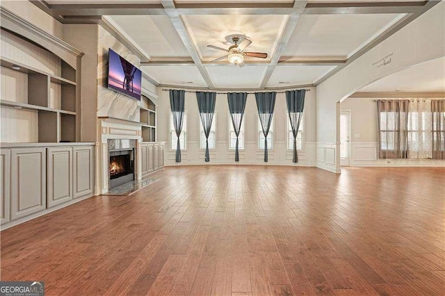
[[[210,63],[227,58],[227,60],[229,60],[229,63],[244,67],[244,56],[251,56],[252,58],[267,58],[267,54],[264,52],[244,51],[244,49],[252,43],[252,40],[245,38],[243,41],[241,41],[240,44],[238,44],[239,40],[240,38],[236,36],[233,37],[232,42],[234,43],[234,45],[229,47],[229,49],[223,49],[223,47],[216,47],[215,45],[207,45],[207,47],[210,47],[211,49],[217,49],[229,53],[226,56],[211,60]]]

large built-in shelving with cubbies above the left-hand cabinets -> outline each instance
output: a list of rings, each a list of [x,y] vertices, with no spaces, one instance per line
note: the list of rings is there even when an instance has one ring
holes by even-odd
[[[76,70],[60,59],[60,73],[55,75],[35,67],[0,58],[1,69],[21,72],[20,81],[26,85],[15,85],[24,91],[23,97],[15,101],[0,99],[6,113],[19,112],[19,109],[37,113],[38,138],[27,142],[76,142]],[[10,73],[13,73],[10,71]],[[15,110],[15,111],[13,111]],[[11,125],[10,133],[19,133],[20,127]],[[22,131],[23,132],[23,131]]]

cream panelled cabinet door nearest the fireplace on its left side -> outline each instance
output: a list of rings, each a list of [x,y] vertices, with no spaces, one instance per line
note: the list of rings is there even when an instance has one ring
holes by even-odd
[[[95,147],[75,146],[73,149],[73,197],[94,192]]]

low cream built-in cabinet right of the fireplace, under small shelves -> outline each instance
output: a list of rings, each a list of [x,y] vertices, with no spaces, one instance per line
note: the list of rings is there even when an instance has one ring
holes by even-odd
[[[160,170],[164,166],[164,142],[143,142],[140,144],[142,176]]]

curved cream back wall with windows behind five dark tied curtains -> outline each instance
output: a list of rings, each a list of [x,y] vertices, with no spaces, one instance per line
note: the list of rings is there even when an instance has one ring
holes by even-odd
[[[159,106],[157,108],[158,140],[165,141],[165,165],[175,163],[175,150],[170,150],[169,92],[159,89]],[[216,96],[216,149],[210,152],[210,163],[204,161],[204,149],[200,149],[200,114],[197,107],[196,94],[186,92],[185,110],[187,112],[187,145],[181,151],[182,161],[179,165],[207,164],[265,164],[264,151],[258,149],[258,111],[254,94],[248,94],[245,106],[245,149],[240,151],[240,161],[234,161],[234,150],[229,149],[229,106],[227,94]],[[268,151],[269,165],[294,165],[292,151],[287,147],[286,97],[284,93],[277,94],[274,115],[274,145]],[[304,124],[304,151],[298,151],[298,165],[315,165],[315,88],[306,92]]]

